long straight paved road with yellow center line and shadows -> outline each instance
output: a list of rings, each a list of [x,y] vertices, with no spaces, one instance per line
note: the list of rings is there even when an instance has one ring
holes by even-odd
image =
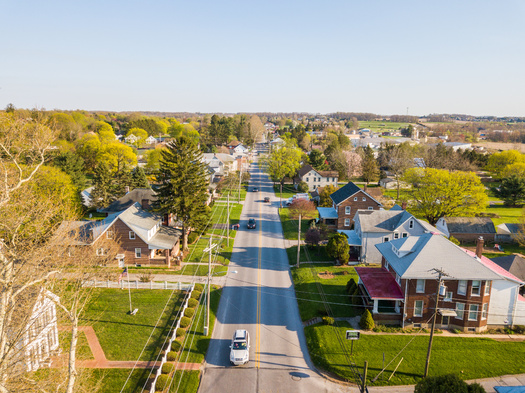
[[[246,196],[230,263],[237,274],[226,279],[199,392],[349,391],[310,367],[283,247],[279,202],[256,163],[250,173],[249,190],[258,186],[260,191]],[[263,202],[266,196],[271,203]],[[256,219],[255,230],[246,228],[249,218]],[[239,328],[251,336],[250,362],[232,367],[229,344]]]

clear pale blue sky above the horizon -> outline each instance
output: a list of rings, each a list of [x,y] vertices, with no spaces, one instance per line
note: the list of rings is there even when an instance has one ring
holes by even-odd
[[[0,6],[0,108],[525,116],[521,0]]]

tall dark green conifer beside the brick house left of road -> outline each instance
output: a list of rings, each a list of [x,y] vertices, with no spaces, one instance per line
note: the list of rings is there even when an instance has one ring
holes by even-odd
[[[182,136],[167,144],[162,151],[160,182],[155,208],[174,214],[182,223],[183,250],[188,249],[190,228],[203,229],[210,214],[208,178],[202,153],[188,138]]]

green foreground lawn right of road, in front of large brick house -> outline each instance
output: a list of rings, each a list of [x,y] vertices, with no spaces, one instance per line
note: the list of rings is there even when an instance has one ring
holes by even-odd
[[[315,325],[305,328],[306,341],[314,363],[343,378],[353,380],[338,341],[336,329],[344,337],[346,327],[333,328]],[[412,335],[367,335],[354,343],[354,363],[362,372],[368,361],[370,386],[382,368],[383,352],[385,365],[413,338]],[[350,343],[345,341],[350,352]],[[425,368],[428,335],[416,337],[403,353],[388,366],[384,375],[374,385],[408,385],[417,383]],[[520,361],[525,353],[525,342],[495,341],[489,338],[439,337],[434,336],[429,375],[459,374],[463,379],[488,378],[505,374],[525,372],[525,362]],[[386,382],[399,360],[403,362],[389,383]]]

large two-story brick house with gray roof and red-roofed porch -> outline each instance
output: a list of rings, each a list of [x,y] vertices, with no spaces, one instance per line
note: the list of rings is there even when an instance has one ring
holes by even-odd
[[[365,306],[374,320],[402,327],[436,327],[480,332],[487,327],[525,323],[525,283],[490,259],[462,249],[445,237],[427,233],[376,245],[381,268],[356,267]],[[437,273],[445,289],[435,305]]]

